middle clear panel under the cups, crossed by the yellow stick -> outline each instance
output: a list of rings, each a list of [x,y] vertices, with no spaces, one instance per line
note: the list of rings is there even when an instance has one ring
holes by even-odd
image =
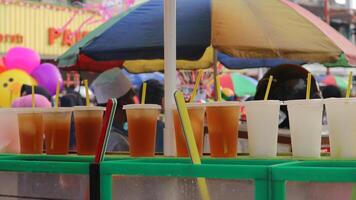
[[[211,200],[254,199],[253,180],[207,179]],[[196,179],[113,176],[113,199],[200,200]]]

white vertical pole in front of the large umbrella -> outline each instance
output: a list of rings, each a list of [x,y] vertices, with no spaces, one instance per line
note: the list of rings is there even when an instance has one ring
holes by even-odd
[[[164,111],[163,150],[165,156],[175,155],[172,108],[176,90],[176,0],[164,0]]]

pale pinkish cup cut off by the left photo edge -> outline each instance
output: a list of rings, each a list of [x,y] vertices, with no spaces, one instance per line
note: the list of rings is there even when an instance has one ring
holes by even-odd
[[[19,126],[15,109],[0,109],[0,127],[0,152],[20,153]]]

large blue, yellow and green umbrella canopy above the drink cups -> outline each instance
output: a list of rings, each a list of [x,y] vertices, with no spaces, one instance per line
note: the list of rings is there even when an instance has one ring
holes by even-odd
[[[94,30],[59,58],[59,66],[75,65],[82,53],[97,61],[125,60],[130,71],[162,70],[163,44],[163,0],[150,0]],[[209,67],[210,46],[237,58],[313,62],[335,62],[345,53],[356,64],[351,42],[290,1],[177,1],[177,59],[203,60],[186,68]]]

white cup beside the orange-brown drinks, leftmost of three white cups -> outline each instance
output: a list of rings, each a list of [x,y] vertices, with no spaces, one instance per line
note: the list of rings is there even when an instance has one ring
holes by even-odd
[[[248,149],[254,157],[277,156],[279,107],[278,100],[247,101]]]

